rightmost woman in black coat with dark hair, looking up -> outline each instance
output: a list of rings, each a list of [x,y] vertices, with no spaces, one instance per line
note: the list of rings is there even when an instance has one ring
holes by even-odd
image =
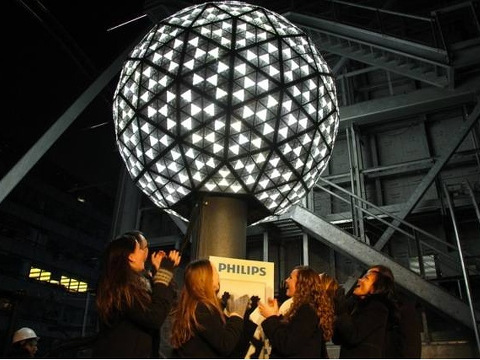
[[[398,322],[394,278],[383,265],[372,266],[357,282],[350,299],[336,299],[333,343],[340,358],[383,358],[388,324]]]

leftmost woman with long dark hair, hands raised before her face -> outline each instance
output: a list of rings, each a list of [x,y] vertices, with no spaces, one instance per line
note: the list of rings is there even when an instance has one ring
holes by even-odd
[[[158,358],[159,330],[172,305],[170,284],[180,254],[151,255],[152,284],[145,278],[148,244],[141,232],[125,233],[105,250],[97,286],[100,332],[96,358]]]

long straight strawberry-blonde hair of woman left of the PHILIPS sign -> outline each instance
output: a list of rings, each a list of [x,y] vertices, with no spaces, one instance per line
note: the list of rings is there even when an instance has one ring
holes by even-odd
[[[180,300],[173,310],[171,344],[179,348],[187,342],[196,329],[200,329],[195,311],[199,303],[212,313],[218,313],[225,322],[220,302],[213,288],[213,268],[209,260],[195,260],[185,268],[184,285]]]

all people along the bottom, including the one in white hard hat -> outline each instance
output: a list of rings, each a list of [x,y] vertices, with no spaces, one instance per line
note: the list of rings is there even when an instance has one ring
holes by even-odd
[[[420,328],[402,311],[394,275],[383,265],[371,266],[347,294],[332,276],[297,266],[285,280],[288,299],[279,304],[257,294],[220,295],[208,259],[187,264],[178,289],[172,279],[180,261],[176,250],[149,257],[140,231],[108,244],[92,357],[159,358],[160,341],[168,341],[174,358],[328,358],[328,342],[340,346],[340,358],[420,358]],[[261,323],[250,318],[257,307]],[[169,316],[170,338],[160,339]],[[18,330],[12,357],[33,358],[38,339],[32,329]]]

